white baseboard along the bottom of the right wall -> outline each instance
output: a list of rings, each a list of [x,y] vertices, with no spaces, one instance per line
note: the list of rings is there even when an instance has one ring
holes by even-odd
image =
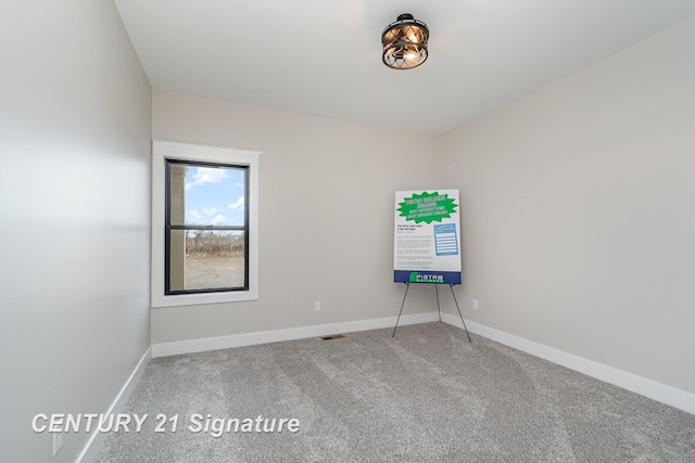
[[[442,321],[460,329],[464,327],[460,318],[450,313],[442,313]],[[695,395],[693,394],[468,320],[466,320],[466,326],[471,333],[695,414]]]

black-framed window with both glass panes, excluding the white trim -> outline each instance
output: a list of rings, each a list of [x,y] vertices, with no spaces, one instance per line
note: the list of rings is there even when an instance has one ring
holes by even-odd
[[[165,295],[249,290],[248,170],[166,159]]]

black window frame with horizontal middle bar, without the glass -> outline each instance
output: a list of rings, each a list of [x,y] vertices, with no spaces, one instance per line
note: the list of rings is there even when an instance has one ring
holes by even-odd
[[[164,158],[165,162],[165,192],[164,192],[164,295],[174,296],[181,294],[210,294],[210,293],[230,293],[249,291],[249,171],[250,166],[227,164],[227,163],[207,163],[200,160],[187,160],[180,158]],[[186,167],[212,167],[212,168],[228,168],[239,169],[244,172],[244,208],[243,208],[243,224],[242,226],[198,226],[198,224],[173,224],[172,223],[172,166],[182,165]],[[172,290],[170,273],[172,273],[172,232],[176,230],[182,230],[188,232],[202,230],[202,231],[242,231],[243,232],[243,286],[229,286],[229,287],[214,287],[214,288],[201,288],[201,290]]]

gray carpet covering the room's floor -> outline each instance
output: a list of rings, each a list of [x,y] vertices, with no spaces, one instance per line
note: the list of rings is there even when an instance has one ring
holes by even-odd
[[[471,337],[427,323],[153,359],[125,410],[142,430],[97,461],[695,462],[695,415]],[[194,413],[300,430],[213,437]]]

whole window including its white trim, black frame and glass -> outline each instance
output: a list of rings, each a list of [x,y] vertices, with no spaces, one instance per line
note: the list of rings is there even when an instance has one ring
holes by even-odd
[[[257,299],[258,153],[153,142],[152,306]]]

